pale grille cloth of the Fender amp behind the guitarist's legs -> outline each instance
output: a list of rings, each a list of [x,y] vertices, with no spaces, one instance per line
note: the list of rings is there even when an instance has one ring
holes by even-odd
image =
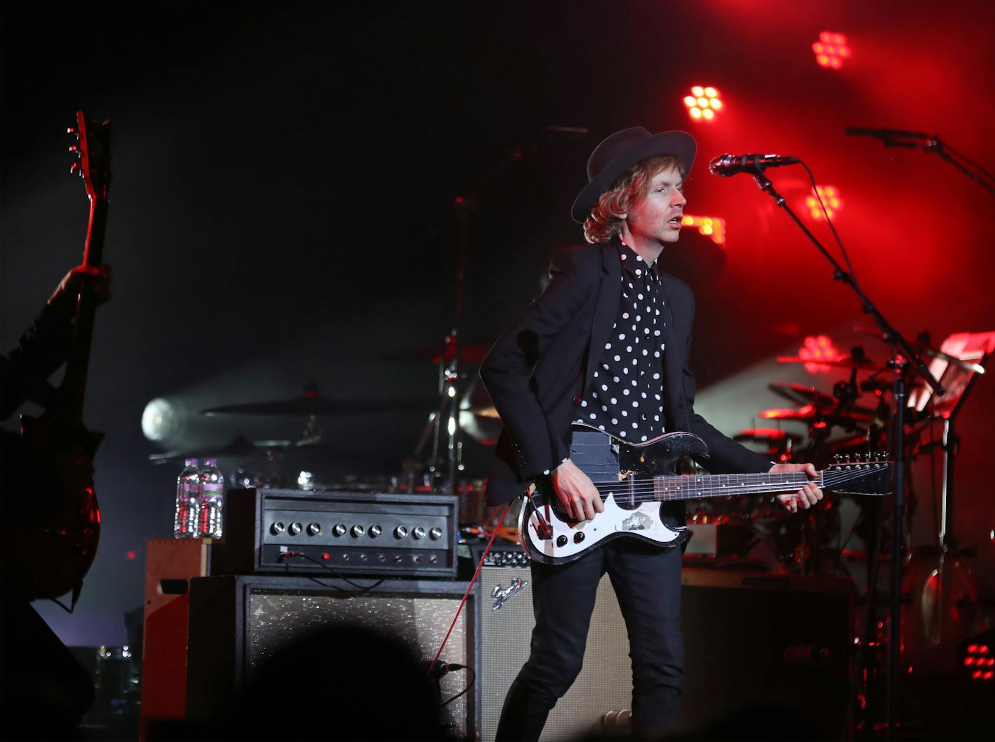
[[[512,579],[528,582],[497,611],[492,592],[506,590]],[[527,568],[484,567],[481,570],[481,737],[494,742],[504,695],[528,659],[532,627],[531,572]],[[549,712],[544,742],[573,740],[590,731],[608,711],[632,707],[632,664],[629,635],[608,575],[598,584],[598,597],[587,635],[584,666],[576,681]]]

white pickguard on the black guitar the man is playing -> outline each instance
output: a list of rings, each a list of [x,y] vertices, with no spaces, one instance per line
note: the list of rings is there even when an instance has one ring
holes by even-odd
[[[525,545],[526,550],[535,556],[570,559],[616,533],[633,534],[659,544],[668,544],[680,538],[686,530],[675,530],[665,525],[660,520],[660,503],[656,501],[644,502],[634,510],[626,510],[619,507],[615,503],[615,496],[611,495],[604,500],[604,505],[605,511],[599,512],[593,520],[582,520],[573,524],[565,523],[553,515],[549,518],[553,535],[548,539],[539,538],[538,516],[532,512],[528,518],[527,528],[522,529],[524,523],[518,524],[520,532],[528,540]],[[525,511],[526,508],[522,508],[522,519]],[[545,508],[542,508],[542,513],[545,515]],[[584,535],[579,542],[576,540],[578,533]],[[562,546],[557,545],[562,540],[560,536],[566,536],[566,543]]]

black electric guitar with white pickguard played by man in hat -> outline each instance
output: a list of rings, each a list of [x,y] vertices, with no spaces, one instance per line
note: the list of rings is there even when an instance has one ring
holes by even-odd
[[[601,493],[604,512],[573,520],[563,511],[552,483],[530,487],[518,515],[518,538],[528,556],[542,564],[565,564],[615,538],[639,538],[661,547],[684,544],[687,526],[661,518],[665,502],[733,494],[794,492],[810,481],[792,473],[680,475],[686,457],[707,457],[704,442],[691,433],[668,433],[633,444],[590,426],[575,431],[570,459]],[[845,461],[819,471],[820,488],[847,494],[889,494],[892,464],[880,457]]]

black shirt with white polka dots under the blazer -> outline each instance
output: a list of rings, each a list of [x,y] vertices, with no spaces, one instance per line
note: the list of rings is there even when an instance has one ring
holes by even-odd
[[[591,386],[580,402],[578,423],[642,443],[665,433],[663,402],[664,316],[660,276],[624,243],[618,315]]]

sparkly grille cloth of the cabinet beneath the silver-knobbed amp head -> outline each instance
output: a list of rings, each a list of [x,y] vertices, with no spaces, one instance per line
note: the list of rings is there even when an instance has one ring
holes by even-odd
[[[246,616],[248,669],[255,670],[288,642],[315,629],[341,623],[390,634],[416,648],[425,661],[432,661],[459,606],[460,598],[452,596],[252,590]],[[473,666],[474,658],[468,656],[471,645],[466,615],[466,611],[460,614],[443,656],[449,662]],[[470,676],[466,670],[445,675],[441,681],[443,700],[463,690]],[[445,723],[463,739],[467,738],[467,699],[473,692],[471,689],[444,709]]]

